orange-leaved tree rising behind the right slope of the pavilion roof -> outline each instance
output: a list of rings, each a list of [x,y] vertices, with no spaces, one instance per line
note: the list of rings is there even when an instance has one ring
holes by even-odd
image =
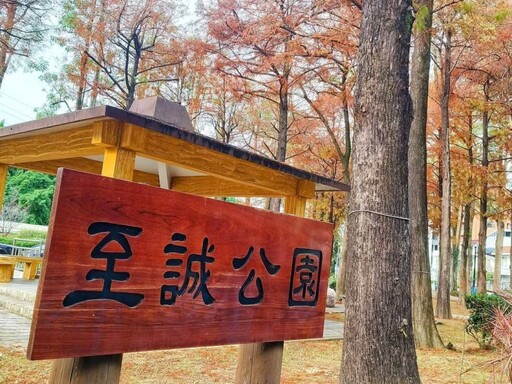
[[[340,29],[338,34],[333,32],[335,26],[343,25],[338,10],[340,4],[332,1],[277,0],[219,0],[203,9],[217,71],[236,79],[232,84],[239,94],[264,99],[272,107],[275,122],[266,133],[271,143],[265,145],[278,161],[287,159],[295,121],[293,91],[310,78],[334,83],[342,76],[342,72],[321,69],[327,63],[336,66],[340,46],[347,41],[340,41]],[[344,61],[338,63],[346,69]],[[298,95],[302,97],[303,92]],[[308,96],[308,104],[314,99]]]

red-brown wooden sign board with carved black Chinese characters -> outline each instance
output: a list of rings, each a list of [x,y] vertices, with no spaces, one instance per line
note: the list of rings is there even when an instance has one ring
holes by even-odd
[[[332,230],[61,169],[27,355],[322,337]]]

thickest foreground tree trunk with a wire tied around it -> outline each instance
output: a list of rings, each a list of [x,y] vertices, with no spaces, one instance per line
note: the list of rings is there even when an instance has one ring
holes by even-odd
[[[363,2],[341,383],[420,382],[407,219],[410,7]]]

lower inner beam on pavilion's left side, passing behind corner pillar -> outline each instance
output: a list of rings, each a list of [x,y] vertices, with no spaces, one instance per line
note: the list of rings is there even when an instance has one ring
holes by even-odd
[[[60,167],[74,169],[77,171],[94,173],[96,175],[101,174],[103,164],[101,161],[95,161],[86,159],[84,157],[77,157],[74,159],[60,159],[60,160],[48,160],[38,161],[33,163],[21,163],[14,164],[17,168],[28,169],[31,171],[37,171],[47,173],[50,175],[56,175],[57,169]],[[158,187],[158,175],[153,173],[147,173],[142,171],[133,171],[133,181],[137,183],[144,183]]]

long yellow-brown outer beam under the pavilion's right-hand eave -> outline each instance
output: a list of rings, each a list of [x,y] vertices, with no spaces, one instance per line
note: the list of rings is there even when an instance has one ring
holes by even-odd
[[[294,196],[298,191],[297,177],[135,125],[124,126],[120,145],[157,161],[267,189],[280,196]]]

